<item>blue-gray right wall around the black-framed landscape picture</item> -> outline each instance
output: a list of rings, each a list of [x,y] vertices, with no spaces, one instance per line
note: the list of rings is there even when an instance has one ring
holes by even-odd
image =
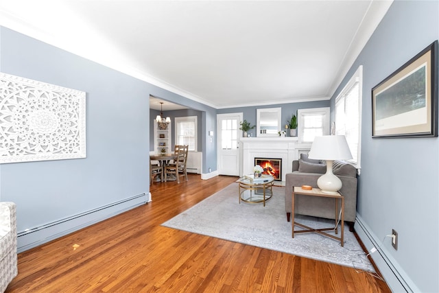
[[[382,257],[378,252],[372,257],[394,292],[403,288],[387,267],[400,275],[406,289],[439,292],[439,142],[372,139],[371,90],[439,38],[438,16],[438,1],[394,1],[331,100],[333,105],[346,81],[364,65],[357,215],[366,230],[361,237],[366,247],[382,248]],[[355,228],[361,230],[357,224]],[[385,237],[392,228],[399,233],[398,250]]]

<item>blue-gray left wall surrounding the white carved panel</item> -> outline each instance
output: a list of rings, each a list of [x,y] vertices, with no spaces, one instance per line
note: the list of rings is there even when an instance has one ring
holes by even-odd
[[[86,159],[0,165],[24,231],[149,192],[150,85],[0,27],[0,69],[86,92]]]

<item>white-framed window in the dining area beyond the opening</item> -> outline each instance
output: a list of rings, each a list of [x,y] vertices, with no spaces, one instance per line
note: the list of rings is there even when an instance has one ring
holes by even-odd
[[[189,150],[196,152],[197,117],[176,117],[176,145],[189,145]]]

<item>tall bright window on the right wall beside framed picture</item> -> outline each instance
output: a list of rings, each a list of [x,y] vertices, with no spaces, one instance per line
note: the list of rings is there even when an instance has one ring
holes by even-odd
[[[353,159],[350,163],[360,167],[361,145],[361,82],[363,67],[355,71],[340,95],[335,99],[335,134],[344,135]]]

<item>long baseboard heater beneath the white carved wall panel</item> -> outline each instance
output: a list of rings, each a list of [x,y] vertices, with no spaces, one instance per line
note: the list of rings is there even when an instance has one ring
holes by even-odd
[[[17,233],[17,253],[45,244],[150,201],[151,194],[139,194],[62,220],[19,231]]]

